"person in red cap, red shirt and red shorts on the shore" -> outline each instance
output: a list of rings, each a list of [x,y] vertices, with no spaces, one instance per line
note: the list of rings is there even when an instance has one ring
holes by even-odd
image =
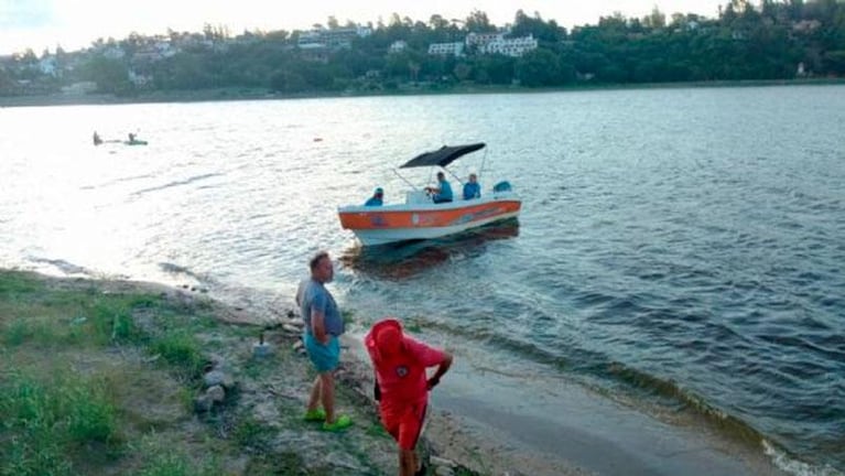
[[[422,432],[429,391],[452,366],[452,354],[419,342],[402,332],[402,324],[386,318],[364,338],[376,371],[376,399],[384,430],[399,446],[399,475],[424,475],[414,451]],[[437,367],[429,377],[426,369]]]

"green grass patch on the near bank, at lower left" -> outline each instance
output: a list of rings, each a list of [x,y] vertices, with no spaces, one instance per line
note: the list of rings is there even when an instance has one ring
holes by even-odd
[[[129,345],[161,355],[167,372],[196,378],[199,347],[186,335],[191,321],[176,324],[175,312],[161,296],[0,273],[0,475],[96,474],[121,461],[140,467],[139,475],[219,474],[195,468],[178,445],[167,452],[132,451],[133,441],[143,442],[143,431],[155,424],[127,409],[127,397],[134,385],[155,377],[121,368],[107,354]],[[136,324],[139,313],[171,317],[167,326],[181,333],[143,329]]]

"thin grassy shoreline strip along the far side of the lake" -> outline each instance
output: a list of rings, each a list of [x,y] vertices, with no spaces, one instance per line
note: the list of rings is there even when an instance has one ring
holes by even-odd
[[[91,95],[34,95],[0,97],[3,107],[53,107],[53,106],[111,106],[130,104],[161,102],[207,102],[207,101],[251,101],[251,100],[295,100],[295,99],[340,99],[360,97],[403,97],[403,96],[442,96],[442,95],[484,95],[484,94],[543,94],[543,93],[584,93],[598,90],[638,90],[638,89],[683,89],[683,88],[726,88],[726,87],[767,87],[767,86],[831,86],[845,85],[845,78],[806,78],[806,79],[743,79],[719,82],[685,83],[641,83],[641,84],[583,84],[553,88],[527,88],[520,86],[478,86],[459,85],[443,89],[408,87],[387,91],[314,91],[297,95],[281,95],[264,88],[215,88],[180,91],[152,91],[134,96],[115,96],[111,94]]]

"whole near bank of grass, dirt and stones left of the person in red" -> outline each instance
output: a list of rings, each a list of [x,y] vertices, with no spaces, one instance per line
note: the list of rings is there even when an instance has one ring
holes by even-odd
[[[0,270],[0,476],[392,473],[394,443],[358,378],[337,387],[349,434],[316,430],[302,419],[315,374],[297,336],[266,329],[275,351],[251,358],[259,328],[219,323],[228,312],[202,295]],[[232,380],[195,413],[209,346]]]

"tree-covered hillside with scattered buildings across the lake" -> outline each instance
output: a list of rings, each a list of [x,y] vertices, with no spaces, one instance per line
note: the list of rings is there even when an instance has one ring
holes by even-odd
[[[329,34],[343,30],[334,18],[327,26]],[[642,19],[613,14],[572,31],[520,10],[506,36],[538,41],[522,56],[486,54],[470,43],[461,56],[429,54],[431,44],[496,31],[503,29],[474,11],[465,20],[435,14],[427,22],[394,14],[370,24],[370,34],[316,46],[311,32],[300,31],[133,33],[98,40],[85,52],[17,55],[0,66],[0,96],[51,94],[79,82],[126,97],[216,90],[217,98],[237,98],[845,75],[845,3],[836,0],[730,0],[716,19],[668,17],[656,8]],[[45,61],[53,73],[43,73]]]

